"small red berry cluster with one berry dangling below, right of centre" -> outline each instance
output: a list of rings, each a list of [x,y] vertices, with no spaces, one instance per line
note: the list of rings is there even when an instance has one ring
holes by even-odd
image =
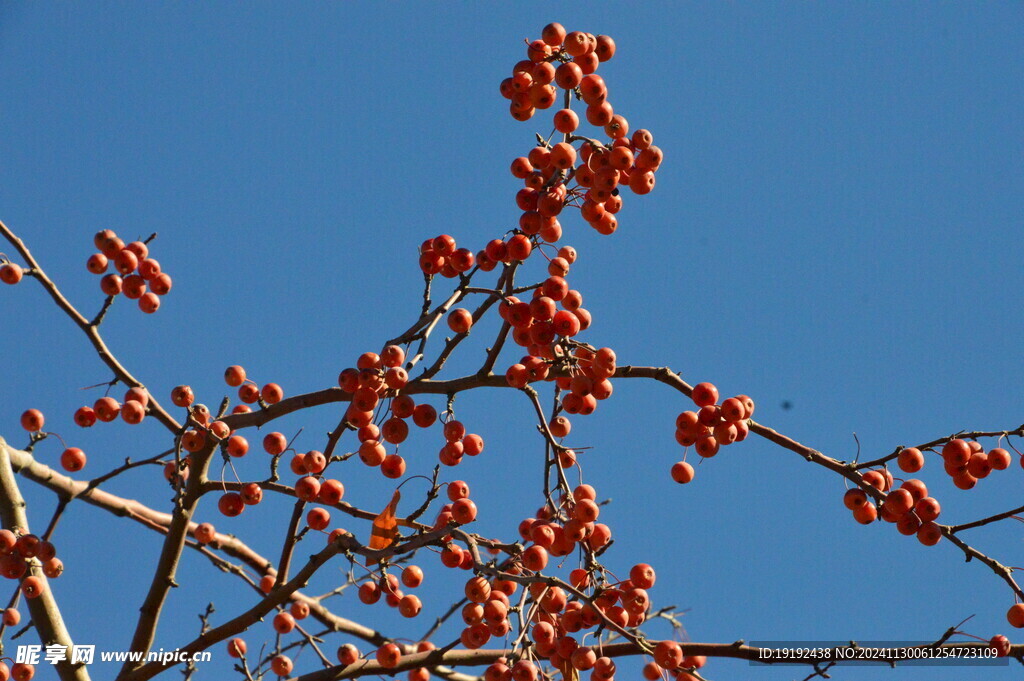
[[[697,383],[690,395],[700,409],[683,412],[676,418],[676,441],[684,448],[693,445],[696,453],[708,459],[718,454],[721,446],[740,442],[750,433],[748,421],[754,416],[754,400],[746,395],[736,395],[718,402],[718,388],[711,383]],[[672,467],[676,482],[693,479],[693,467],[685,461]]]

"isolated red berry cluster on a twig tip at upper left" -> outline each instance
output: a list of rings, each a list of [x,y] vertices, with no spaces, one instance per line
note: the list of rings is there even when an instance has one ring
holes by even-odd
[[[161,296],[171,290],[171,276],[161,271],[160,263],[150,257],[150,247],[144,242],[125,245],[113,229],[102,229],[92,243],[99,253],[90,255],[85,266],[93,274],[103,275],[99,280],[103,293],[109,296],[123,293],[126,298],[138,300],[139,309],[147,314],[160,309]],[[117,271],[105,274],[112,263]]]

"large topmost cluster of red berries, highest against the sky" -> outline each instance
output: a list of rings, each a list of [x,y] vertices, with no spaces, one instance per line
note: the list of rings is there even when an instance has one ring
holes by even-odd
[[[517,121],[553,107],[558,98],[555,86],[564,90],[564,108],[554,115],[562,141],[552,144],[539,137],[537,147],[512,162],[512,175],[525,184],[516,195],[524,235],[557,241],[561,235],[557,216],[568,205],[578,207],[598,232],[610,235],[618,226],[615,214],[623,206],[618,187],[628,185],[637,195],[654,188],[662,151],[647,130],[629,135],[629,122],[614,113],[607,85],[596,74],[614,53],[615,43],[608,36],[566,33],[560,24],[549,24],[542,38],[529,43],[528,58],[517,62],[512,76],[502,81],[501,93],[511,100],[509,108]],[[580,117],[569,108],[571,95],[587,104],[587,122],[602,128],[610,141],[575,134]]]

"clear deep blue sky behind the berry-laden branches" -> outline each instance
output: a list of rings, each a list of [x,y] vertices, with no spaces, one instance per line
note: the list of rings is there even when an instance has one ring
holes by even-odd
[[[612,237],[563,220],[581,252],[570,283],[595,318],[586,340],[614,347],[621,364],[748,393],[758,420],[839,458],[855,455],[854,433],[866,458],[1020,424],[1018,3],[2,2],[0,219],[87,311],[101,301],[84,267],[92,233],[159,232],[154,255],[174,290],[153,316],[119,301],[104,333],[165,401],[189,383],[216,405],[236,363],[289,394],[332,385],[417,314],[423,239],[450,232],[476,250],[515,224],[509,162],[550,128],[546,116],[513,121],[498,84],[549,20],[614,37],[618,53],[600,71],[610,99],[666,154],[654,193],[627,197]],[[78,388],[110,376],[28,284],[0,290],[0,434],[24,443],[17,416],[39,407],[89,453],[92,473],[167,446],[154,423],[72,424],[97,396]],[[459,414],[487,449],[458,475],[480,530],[508,537],[540,503],[531,413],[512,392],[470,401]],[[920,640],[972,614],[972,633],[1011,634],[1013,596],[986,568],[948,542],[925,548],[891,525],[857,525],[842,481],[792,453],[754,438],[674,484],[673,420],[686,407],[662,386],[620,381],[595,416],[574,419],[573,441],[596,445],[587,480],[614,500],[602,516],[617,533],[609,564],[654,564],[655,603],[689,608],[692,639]],[[312,449],[336,416],[282,427],[306,426],[299,446]],[[412,471],[433,466],[439,438],[419,435]],[[39,450],[47,462],[58,454]],[[262,475],[258,456],[243,477]],[[947,521],[1019,505],[1022,476],[1015,463],[965,493],[934,462],[924,472]],[[111,491],[166,505],[157,478],[126,475]],[[376,473],[343,479],[353,503],[387,499]],[[24,486],[39,527],[52,496]],[[212,506],[199,518],[278,554],[290,505],[237,520]],[[55,590],[76,639],[124,647],[124,604],[140,602],[159,538],[76,511],[55,536],[67,565]],[[970,540],[1024,564],[1016,523]],[[437,607],[460,587],[421,562],[435,585],[421,596]],[[179,581],[158,645],[189,640],[210,599],[218,622],[251,602],[193,553]],[[410,637],[427,627],[349,600],[346,616]],[[250,647],[269,632],[247,635]],[[313,668],[304,656],[300,671]],[[226,669],[218,646],[199,678]],[[727,662],[707,672],[807,673]],[[836,678],[975,673],[1018,674]]]

